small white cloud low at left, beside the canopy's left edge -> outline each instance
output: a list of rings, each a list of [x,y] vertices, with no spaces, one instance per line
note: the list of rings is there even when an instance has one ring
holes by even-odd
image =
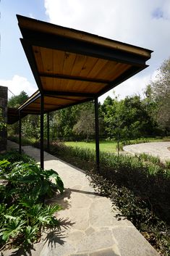
[[[11,80],[0,80],[0,86],[7,86],[14,95],[18,95],[21,91],[25,91],[28,96],[30,96],[38,89],[37,86],[30,83],[27,78],[23,78],[19,75],[14,75]],[[8,92],[9,98],[12,96],[10,91]]]

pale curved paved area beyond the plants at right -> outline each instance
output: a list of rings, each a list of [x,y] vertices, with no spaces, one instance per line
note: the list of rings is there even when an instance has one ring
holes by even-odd
[[[170,141],[149,142],[124,146],[124,151],[132,154],[151,154],[154,157],[160,157],[163,162],[170,160]]]

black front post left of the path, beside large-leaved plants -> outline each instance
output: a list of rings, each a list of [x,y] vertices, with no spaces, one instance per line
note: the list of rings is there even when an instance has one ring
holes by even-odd
[[[44,97],[41,94],[41,168],[43,169],[43,108],[44,108]]]

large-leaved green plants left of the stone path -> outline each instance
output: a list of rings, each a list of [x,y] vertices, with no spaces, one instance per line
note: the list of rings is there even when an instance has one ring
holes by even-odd
[[[0,181],[0,249],[27,248],[45,228],[59,228],[54,212],[61,207],[46,205],[47,197],[64,189],[58,173],[12,151],[0,155]]]

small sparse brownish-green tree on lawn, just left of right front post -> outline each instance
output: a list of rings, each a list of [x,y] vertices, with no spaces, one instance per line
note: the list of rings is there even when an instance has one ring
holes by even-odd
[[[76,134],[82,134],[89,141],[90,136],[95,133],[95,116],[93,110],[82,110],[80,112],[80,119],[73,127]]]

